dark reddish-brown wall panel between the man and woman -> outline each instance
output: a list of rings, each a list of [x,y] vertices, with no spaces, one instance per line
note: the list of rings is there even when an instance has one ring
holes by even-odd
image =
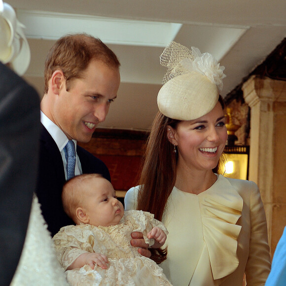
[[[124,195],[137,185],[147,135],[140,131],[96,129],[89,143],[78,144],[107,165],[114,189]]]

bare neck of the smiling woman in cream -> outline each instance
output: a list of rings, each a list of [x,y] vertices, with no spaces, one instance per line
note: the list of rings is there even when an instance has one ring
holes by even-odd
[[[177,168],[175,186],[179,190],[192,194],[200,194],[209,189],[217,177],[212,170],[193,171],[186,168]]]

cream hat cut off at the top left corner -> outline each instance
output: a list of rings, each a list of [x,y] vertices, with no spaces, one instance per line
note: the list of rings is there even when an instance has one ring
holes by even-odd
[[[19,75],[26,72],[31,59],[23,28],[14,9],[0,0],[0,61],[10,63],[10,67]]]

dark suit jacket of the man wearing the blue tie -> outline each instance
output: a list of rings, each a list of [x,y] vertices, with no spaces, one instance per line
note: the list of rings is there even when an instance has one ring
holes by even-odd
[[[98,173],[110,181],[107,166],[80,146],[76,147],[82,173]],[[40,155],[36,194],[41,205],[42,214],[48,224],[48,230],[54,236],[61,227],[74,224],[64,212],[62,206],[62,189],[66,182],[61,152],[42,125],[40,136]]]

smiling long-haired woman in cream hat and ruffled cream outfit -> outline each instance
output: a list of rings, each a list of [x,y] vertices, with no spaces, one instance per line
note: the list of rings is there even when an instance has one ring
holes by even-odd
[[[160,266],[174,286],[242,286],[244,273],[248,286],[264,285],[270,254],[259,189],[216,174],[227,140],[219,97],[224,68],[175,42],[160,59],[169,68],[160,111],[140,186],[127,192],[125,209],[154,213],[167,227]]]

